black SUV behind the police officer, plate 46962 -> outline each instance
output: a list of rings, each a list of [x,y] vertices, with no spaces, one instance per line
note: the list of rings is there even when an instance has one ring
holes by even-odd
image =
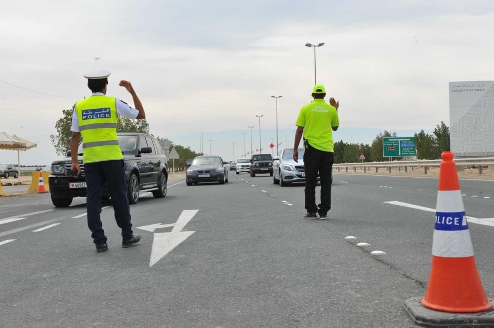
[[[168,182],[168,164],[163,149],[156,138],[142,133],[117,133],[120,148],[124,155],[125,175],[127,178],[127,197],[129,204],[139,200],[139,191],[152,191],[155,198],[166,196]],[[82,163],[82,144],[79,145],[78,158],[81,176],[69,175],[72,164],[70,151],[68,158],[51,163],[48,177],[51,201],[56,207],[67,207],[74,197],[86,197],[84,164]],[[110,198],[110,191],[105,184],[103,199]]]

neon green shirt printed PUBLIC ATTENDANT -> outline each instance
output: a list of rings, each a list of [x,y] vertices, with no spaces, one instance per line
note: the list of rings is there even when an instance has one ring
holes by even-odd
[[[331,126],[339,126],[338,112],[324,99],[314,99],[300,109],[296,126],[304,128],[304,138],[309,145],[322,151],[334,152]]]

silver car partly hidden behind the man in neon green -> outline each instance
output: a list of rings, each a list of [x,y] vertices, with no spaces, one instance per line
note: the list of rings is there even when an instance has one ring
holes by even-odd
[[[298,148],[298,163],[293,160],[293,148],[280,150],[278,156],[273,158],[273,184],[280,184],[282,187],[292,182],[305,182],[303,147]],[[319,174],[317,182],[320,182]]]

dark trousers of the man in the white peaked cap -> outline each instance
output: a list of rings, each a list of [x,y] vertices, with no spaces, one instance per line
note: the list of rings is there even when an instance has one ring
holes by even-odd
[[[110,189],[115,220],[122,229],[123,240],[132,238],[130,208],[127,198],[127,184],[123,160],[112,160],[84,164],[87,196],[87,226],[95,244],[106,244],[107,237],[101,222],[101,193],[106,182]]]

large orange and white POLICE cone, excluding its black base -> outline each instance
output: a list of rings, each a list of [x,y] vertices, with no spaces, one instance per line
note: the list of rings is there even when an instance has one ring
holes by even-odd
[[[489,310],[465,215],[453,153],[441,154],[432,266],[423,306],[444,312]]]

